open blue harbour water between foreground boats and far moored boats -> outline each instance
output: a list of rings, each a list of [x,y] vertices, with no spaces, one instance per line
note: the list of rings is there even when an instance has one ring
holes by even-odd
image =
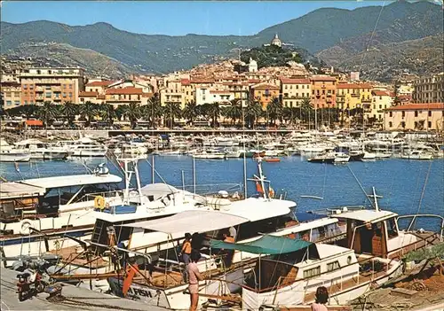
[[[139,160],[142,185],[152,183],[151,157]],[[66,161],[34,161],[0,163],[0,175],[8,181],[54,176],[85,174],[106,162],[110,173],[121,175],[114,162],[106,158],[68,159]],[[247,178],[257,174],[257,161],[247,159]],[[189,156],[155,156],[155,182],[169,183],[197,192],[239,190],[242,193],[243,159],[202,160]],[[193,169],[195,167],[195,169]],[[264,174],[276,195],[297,202],[297,211],[324,209],[333,206],[370,205],[364,190],[375,187],[379,206],[398,214],[440,214],[444,216],[444,159],[385,159],[372,162],[349,162],[345,165],[310,163],[299,157],[283,157],[279,163],[263,163]],[[135,184],[135,183],[134,183]],[[237,185],[237,187],[236,187]],[[256,186],[247,182],[248,194]],[[317,197],[317,198],[313,198]],[[427,226],[427,223],[421,223]]]

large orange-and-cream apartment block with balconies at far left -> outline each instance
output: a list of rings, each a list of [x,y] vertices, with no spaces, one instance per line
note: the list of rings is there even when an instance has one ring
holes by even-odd
[[[82,68],[28,68],[19,79],[21,105],[78,103],[84,89]]]

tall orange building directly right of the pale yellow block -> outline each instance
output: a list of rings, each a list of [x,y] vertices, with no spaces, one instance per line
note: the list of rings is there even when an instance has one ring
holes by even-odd
[[[315,108],[336,107],[337,80],[329,75],[313,75],[310,78],[312,105]]]

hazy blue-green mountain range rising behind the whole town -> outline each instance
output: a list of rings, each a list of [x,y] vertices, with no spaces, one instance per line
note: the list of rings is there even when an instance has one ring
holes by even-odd
[[[237,49],[247,50],[269,43],[279,34],[283,43],[293,44],[341,63],[327,51],[345,49],[354,56],[369,45],[402,43],[440,34],[443,16],[439,5],[429,2],[398,1],[384,8],[368,6],[353,11],[324,8],[298,19],[268,27],[251,36],[140,35],[116,29],[107,23],[67,26],[38,20],[23,24],[2,22],[2,54],[13,53],[21,44],[64,43],[89,49],[115,59],[138,72],[165,73],[187,69],[215,59],[233,57]],[[104,68],[105,69],[105,68]]]

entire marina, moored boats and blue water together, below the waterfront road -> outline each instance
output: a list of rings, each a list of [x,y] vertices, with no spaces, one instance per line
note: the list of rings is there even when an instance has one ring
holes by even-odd
[[[53,281],[185,309],[185,266],[175,249],[189,230],[203,241],[199,305],[297,308],[322,284],[332,308],[351,309],[353,299],[400,276],[400,257],[442,243],[439,152],[406,160],[399,148],[399,157],[371,159],[371,151],[349,152],[344,139],[293,149],[284,143],[292,136],[272,140],[81,138],[74,148],[107,156],[66,147],[67,159],[2,162],[2,264],[21,270],[43,260]],[[361,235],[386,231],[367,245],[361,227]],[[235,243],[219,239],[228,228],[239,232]]]

